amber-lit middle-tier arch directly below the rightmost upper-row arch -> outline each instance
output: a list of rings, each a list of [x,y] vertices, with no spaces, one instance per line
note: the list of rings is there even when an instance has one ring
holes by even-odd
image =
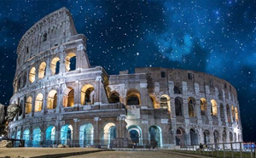
[[[73,87],[67,87],[63,92],[63,106],[73,107],[74,105],[74,90]]]

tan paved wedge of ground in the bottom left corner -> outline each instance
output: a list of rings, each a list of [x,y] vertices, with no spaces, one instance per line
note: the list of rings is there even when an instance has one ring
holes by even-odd
[[[10,156],[11,158],[31,157],[36,155],[52,155],[62,153],[80,152],[86,150],[98,150],[96,148],[0,148],[0,158]]]

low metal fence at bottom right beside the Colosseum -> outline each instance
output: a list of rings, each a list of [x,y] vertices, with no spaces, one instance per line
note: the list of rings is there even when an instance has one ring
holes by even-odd
[[[236,143],[219,143],[219,144],[196,144],[175,146],[177,152],[207,155],[212,157],[224,158],[256,158],[255,148],[251,144],[245,147],[242,142]]]

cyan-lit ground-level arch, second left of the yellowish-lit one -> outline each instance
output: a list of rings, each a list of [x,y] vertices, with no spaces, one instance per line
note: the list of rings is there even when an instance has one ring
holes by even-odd
[[[73,127],[64,125],[61,127],[61,144],[70,145],[73,139]]]

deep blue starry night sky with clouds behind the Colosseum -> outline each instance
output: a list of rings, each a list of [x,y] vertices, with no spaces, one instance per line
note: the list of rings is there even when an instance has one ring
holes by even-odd
[[[202,71],[236,87],[244,141],[256,141],[256,2],[0,0],[0,103],[13,93],[16,48],[38,20],[66,7],[87,38],[90,65]]]

